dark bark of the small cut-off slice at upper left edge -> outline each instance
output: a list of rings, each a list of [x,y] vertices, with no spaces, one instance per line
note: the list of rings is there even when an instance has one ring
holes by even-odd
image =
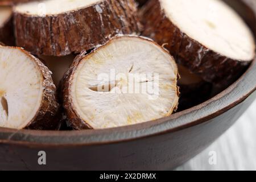
[[[13,18],[7,20],[4,24],[0,25],[0,42],[7,46],[14,46],[14,31],[13,31]]]

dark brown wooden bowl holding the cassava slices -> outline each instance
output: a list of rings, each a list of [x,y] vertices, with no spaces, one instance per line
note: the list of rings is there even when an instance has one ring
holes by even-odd
[[[256,2],[225,0],[256,37]],[[0,129],[0,169],[173,169],[220,137],[256,98],[256,59],[216,97],[155,122],[106,130]],[[47,165],[38,164],[46,152]]]

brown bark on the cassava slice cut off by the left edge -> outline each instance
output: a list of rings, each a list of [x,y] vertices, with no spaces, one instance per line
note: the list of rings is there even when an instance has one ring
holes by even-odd
[[[18,47],[17,47],[18,48]],[[59,113],[59,104],[56,99],[56,86],[53,84],[51,72],[36,57],[32,56],[22,48],[18,48],[28,56],[32,57],[43,75],[43,98],[42,104],[35,115],[34,119],[25,127],[30,130],[57,130],[60,127],[60,119],[57,117]]]

